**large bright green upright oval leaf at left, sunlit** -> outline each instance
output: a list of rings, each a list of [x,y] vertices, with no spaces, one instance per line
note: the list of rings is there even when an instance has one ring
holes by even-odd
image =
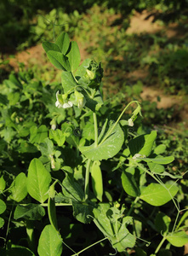
[[[51,176],[42,162],[37,159],[31,160],[27,176],[27,190],[31,197],[41,203],[46,201],[50,182]]]

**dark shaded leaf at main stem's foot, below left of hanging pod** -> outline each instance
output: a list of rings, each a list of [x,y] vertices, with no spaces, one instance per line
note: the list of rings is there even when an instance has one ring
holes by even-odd
[[[72,200],[73,216],[83,224],[88,224],[93,219],[93,207],[85,202]]]

